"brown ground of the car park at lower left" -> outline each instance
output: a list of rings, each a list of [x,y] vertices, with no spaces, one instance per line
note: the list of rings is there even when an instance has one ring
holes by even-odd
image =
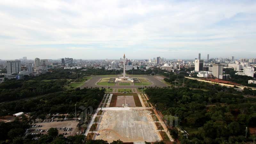
[[[70,135],[76,135],[76,132],[79,132],[78,127],[76,126],[78,124],[78,122],[76,122],[75,120],[67,120],[67,121],[54,121],[54,122],[44,122],[44,123],[36,123],[36,125],[42,125],[42,127],[39,127],[41,130],[45,130],[45,132],[42,132],[43,134],[46,134],[46,131],[50,128],[57,128],[59,131],[59,134],[63,134],[66,133],[63,131],[63,127],[69,127],[72,128],[72,130],[70,132],[67,132],[67,135],[65,136],[70,136]],[[59,129],[61,128],[61,130]],[[38,127],[36,128],[30,128],[30,129],[38,129]],[[33,131],[31,133],[40,133],[40,131]]]

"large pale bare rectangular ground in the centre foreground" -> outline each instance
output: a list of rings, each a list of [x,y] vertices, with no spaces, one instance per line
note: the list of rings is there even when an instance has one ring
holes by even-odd
[[[98,126],[98,140],[123,142],[158,141],[160,134],[150,122],[148,110],[107,110]]]

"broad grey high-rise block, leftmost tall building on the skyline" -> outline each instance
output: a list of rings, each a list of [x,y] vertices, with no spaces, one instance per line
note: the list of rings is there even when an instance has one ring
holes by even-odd
[[[19,74],[21,71],[20,60],[7,60],[6,61],[7,74]]]

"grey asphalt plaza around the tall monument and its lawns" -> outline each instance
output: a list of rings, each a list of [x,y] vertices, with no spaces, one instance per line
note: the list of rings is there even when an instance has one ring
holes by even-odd
[[[106,77],[106,76],[94,76],[92,77],[92,79],[90,81],[87,81],[86,83],[84,83],[81,88],[84,87],[110,87],[110,88],[139,88],[141,87],[141,85],[112,85],[112,86],[101,86],[101,85],[96,85],[96,83],[102,78],[102,77]],[[134,76],[134,77],[138,77],[138,76]],[[146,85],[148,86],[158,86],[158,87],[167,87],[167,84],[164,84],[163,82],[161,82],[160,80],[158,80],[157,78],[155,78],[155,76],[139,76],[139,77],[145,77],[147,78],[152,84],[151,85]]]

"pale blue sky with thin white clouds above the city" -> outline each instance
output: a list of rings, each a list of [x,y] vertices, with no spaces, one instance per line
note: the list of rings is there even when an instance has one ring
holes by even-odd
[[[256,1],[1,0],[0,59],[256,57]]]

